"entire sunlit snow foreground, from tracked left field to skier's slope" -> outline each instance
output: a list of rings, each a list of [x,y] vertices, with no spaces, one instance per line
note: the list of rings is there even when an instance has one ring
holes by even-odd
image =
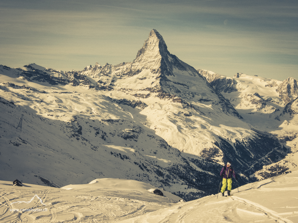
[[[180,198],[173,194],[165,192],[165,197],[153,194],[155,187],[133,180],[97,179],[63,188],[32,184],[18,187],[0,181],[0,221],[295,223],[298,222],[297,185],[298,171],[295,171],[233,189],[232,197],[213,194],[179,202]],[[20,203],[30,201],[35,195],[40,199]]]

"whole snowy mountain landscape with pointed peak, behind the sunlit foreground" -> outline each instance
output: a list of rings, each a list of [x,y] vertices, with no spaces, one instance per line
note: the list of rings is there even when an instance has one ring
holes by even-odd
[[[155,29],[133,62],[0,65],[0,80],[1,180],[124,178],[193,200],[217,192],[226,161],[242,185],[297,151],[296,79],[195,70]]]

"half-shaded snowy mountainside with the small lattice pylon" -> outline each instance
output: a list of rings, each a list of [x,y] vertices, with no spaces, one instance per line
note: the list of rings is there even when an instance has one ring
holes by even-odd
[[[193,156],[205,168],[198,172],[148,128],[138,107],[81,86],[70,91],[72,86],[46,87],[22,78],[13,80],[16,85],[8,76],[1,80],[7,81],[0,86],[5,97],[0,98],[1,180],[61,187],[126,178],[193,193],[184,194],[188,199],[212,189],[215,174],[206,169],[220,165]],[[22,130],[16,129],[22,114]],[[199,177],[206,179],[204,184],[195,180]]]

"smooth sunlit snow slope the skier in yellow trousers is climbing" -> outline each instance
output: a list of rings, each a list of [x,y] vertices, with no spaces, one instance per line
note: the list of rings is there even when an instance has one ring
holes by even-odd
[[[297,182],[296,171],[241,186],[232,197],[215,194],[119,222],[298,222]]]

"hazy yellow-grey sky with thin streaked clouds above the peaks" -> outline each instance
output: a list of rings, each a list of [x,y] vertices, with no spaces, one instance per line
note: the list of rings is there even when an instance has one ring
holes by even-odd
[[[1,0],[0,64],[131,62],[152,29],[195,69],[298,79],[297,0]]]

